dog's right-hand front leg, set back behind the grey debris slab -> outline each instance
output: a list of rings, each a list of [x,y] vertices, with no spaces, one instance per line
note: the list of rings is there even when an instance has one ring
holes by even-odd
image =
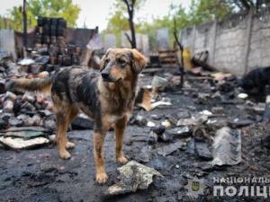
[[[129,118],[125,116],[115,124],[115,157],[117,162],[123,164],[128,162],[128,160],[121,153],[122,139],[128,120]]]

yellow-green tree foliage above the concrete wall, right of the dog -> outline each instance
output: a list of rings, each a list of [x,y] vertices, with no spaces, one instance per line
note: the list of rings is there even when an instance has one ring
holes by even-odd
[[[176,31],[177,35],[181,29],[188,25],[200,24],[207,20],[222,20],[229,13],[238,11],[247,11],[247,5],[257,6],[257,10],[266,7],[270,4],[269,0],[192,0],[189,8],[184,8],[182,4],[171,4],[166,16],[157,17],[152,19],[152,22],[148,22],[148,19],[136,18],[136,11],[141,6],[144,6],[146,0],[140,0],[136,7],[135,16],[135,30],[136,32],[148,34],[149,45],[152,50],[156,50],[156,29],[168,27],[170,33],[170,44],[173,46],[175,41],[173,31]],[[115,12],[110,13],[108,17],[108,29],[103,31],[104,33],[113,33],[118,40],[118,46],[121,41],[121,31],[130,30],[128,22],[128,13],[122,0],[116,0],[113,4],[112,10]]]

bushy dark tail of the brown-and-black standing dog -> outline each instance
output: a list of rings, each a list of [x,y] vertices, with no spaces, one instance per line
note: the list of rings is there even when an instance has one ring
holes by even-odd
[[[48,95],[50,94],[50,87],[50,75],[37,79],[16,79],[5,84],[6,90],[10,92],[43,92]]]

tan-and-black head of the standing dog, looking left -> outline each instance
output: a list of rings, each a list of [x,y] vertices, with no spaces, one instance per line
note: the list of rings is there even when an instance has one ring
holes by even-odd
[[[109,48],[100,62],[103,81],[119,82],[134,74],[139,75],[147,61],[136,49]]]

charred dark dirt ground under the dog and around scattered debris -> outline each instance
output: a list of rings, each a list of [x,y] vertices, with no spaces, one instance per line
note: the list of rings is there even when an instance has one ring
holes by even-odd
[[[151,111],[137,109],[134,113],[156,124],[164,121],[166,115],[180,108],[186,109],[190,105],[196,107],[197,111],[221,106],[226,115],[226,118],[222,119],[255,120],[256,115],[262,116],[248,110],[240,110],[237,104],[222,104],[219,98],[211,98],[205,104],[196,104],[194,93],[175,91],[164,92],[163,95],[171,99],[172,106]],[[152,119],[152,114],[157,114],[161,119]],[[125,132],[123,154],[130,160],[155,168],[164,178],[154,177],[148,189],[119,196],[104,194],[117,178],[117,168],[121,167],[114,157],[113,131],[109,131],[105,139],[104,156],[109,181],[103,185],[94,182],[93,130],[68,132],[71,142],[76,143],[76,147],[70,150],[72,155],[70,160],[60,159],[57,146],[51,144],[20,153],[2,147],[0,201],[269,201],[264,197],[213,197],[212,178],[258,178],[270,175],[269,149],[262,145],[267,145],[267,137],[270,135],[269,123],[256,122],[239,129],[242,139],[242,162],[235,166],[204,169],[202,164],[205,161],[195,154],[191,136],[181,138],[181,141],[186,143],[185,147],[164,157],[147,150],[150,127],[129,125]],[[175,140],[177,137],[173,141]],[[155,148],[169,144],[158,141]],[[208,181],[208,186],[204,190],[204,195],[191,198],[185,194],[184,186],[187,184],[188,176],[195,175]],[[257,186],[264,185],[257,184]],[[229,185],[225,183],[224,186]]]

